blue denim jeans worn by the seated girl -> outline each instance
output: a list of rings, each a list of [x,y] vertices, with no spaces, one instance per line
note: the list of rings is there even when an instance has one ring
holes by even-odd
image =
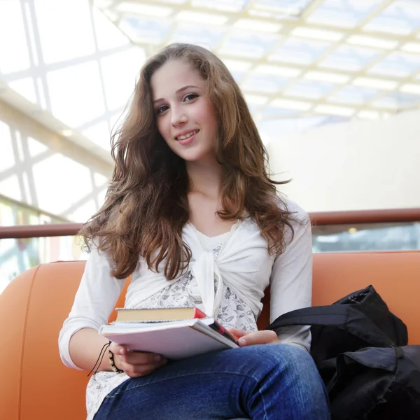
[[[94,420],[330,419],[328,395],[307,351],[260,344],[168,363],[130,378]]]

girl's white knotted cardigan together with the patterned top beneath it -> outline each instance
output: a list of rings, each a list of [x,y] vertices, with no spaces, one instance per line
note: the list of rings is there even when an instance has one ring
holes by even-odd
[[[125,296],[126,308],[170,307],[194,304],[223,325],[241,330],[257,330],[262,310],[261,299],[270,285],[270,320],[287,311],[311,305],[312,244],[307,214],[286,200],[288,209],[302,223],[293,223],[294,237],[284,253],[269,255],[267,241],[251,219],[238,221],[230,232],[207,237],[188,223],[183,241],[190,246],[192,258],[188,270],[168,281],[162,270],[148,269],[143,260],[132,273]],[[286,230],[286,239],[290,230]],[[82,328],[98,330],[108,322],[123,290],[125,280],[111,277],[109,260],[92,250],[86,262],[69,317],[59,334],[59,352],[63,363],[78,367],[71,360],[71,336]],[[307,327],[290,327],[279,335],[281,342],[309,350]],[[128,377],[115,372],[98,372],[87,386],[87,419],[93,418],[105,396]]]

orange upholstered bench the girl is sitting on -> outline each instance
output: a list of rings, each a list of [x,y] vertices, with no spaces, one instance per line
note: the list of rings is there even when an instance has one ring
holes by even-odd
[[[0,419],[85,419],[87,372],[64,367],[57,346],[84,265],[39,265],[0,295]],[[330,304],[369,284],[405,321],[409,343],[420,344],[420,252],[314,255],[314,305]],[[268,306],[260,328],[267,325]]]

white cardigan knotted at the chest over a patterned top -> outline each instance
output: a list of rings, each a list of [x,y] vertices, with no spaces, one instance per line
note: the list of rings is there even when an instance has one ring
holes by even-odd
[[[311,225],[307,214],[295,203],[286,200],[288,209],[303,223],[293,223],[293,241],[286,251],[274,258],[267,251],[267,241],[260,235],[258,225],[251,219],[236,223],[226,236],[218,257],[207,250],[194,226],[188,223],[183,228],[183,240],[190,246],[190,268],[196,281],[195,290],[200,295],[204,311],[216,316],[221,303],[223,283],[241,297],[253,311],[255,319],[262,310],[260,302],[264,290],[271,283],[270,320],[287,311],[311,305],[312,243]],[[290,237],[290,229],[286,231]],[[134,307],[158,293],[169,283],[160,272],[154,272],[139,261],[132,273],[127,289],[125,307]],[[218,288],[214,291],[215,278]],[[71,360],[69,342],[71,336],[82,328],[99,329],[108,322],[125,280],[109,274],[109,261],[103,253],[92,250],[85,272],[80,281],[69,317],[59,333],[59,353],[69,367],[78,368]],[[297,344],[309,350],[308,327],[290,327],[279,335],[281,342]]]

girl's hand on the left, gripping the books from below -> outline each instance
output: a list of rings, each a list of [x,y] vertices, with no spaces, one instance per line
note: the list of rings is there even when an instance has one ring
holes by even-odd
[[[109,350],[114,355],[116,367],[132,378],[146,376],[167,364],[167,359],[160,354],[128,351],[125,346],[114,342],[111,342]]]

